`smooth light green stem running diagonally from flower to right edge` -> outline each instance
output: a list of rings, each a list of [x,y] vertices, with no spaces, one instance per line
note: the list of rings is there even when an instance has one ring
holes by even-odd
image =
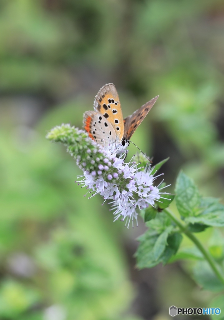
[[[216,266],[215,261],[209,254],[209,252],[203,247],[200,241],[194,236],[186,227],[177,219],[177,217],[170,211],[169,209],[164,209],[164,212],[176,223],[176,225],[180,228],[180,230],[185,233],[185,235],[191,239],[192,242],[196,245],[196,247],[202,252],[204,258],[210,264],[212,270],[216,274],[216,276],[220,279],[220,281],[224,284],[224,276],[220,273],[219,269]]]

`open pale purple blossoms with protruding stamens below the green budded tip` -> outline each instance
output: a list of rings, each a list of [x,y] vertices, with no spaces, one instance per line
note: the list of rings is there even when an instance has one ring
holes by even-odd
[[[105,201],[111,200],[114,221],[121,218],[122,221],[126,220],[127,227],[131,221],[133,226],[133,220],[137,221],[138,211],[149,205],[154,206],[155,201],[160,198],[159,189],[153,186],[155,177],[150,170],[138,169],[135,162],[124,163],[122,156],[116,157],[116,150],[102,148],[102,153],[105,158],[96,165],[97,170],[88,174],[84,172],[84,179],[79,183],[92,190],[89,191],[91,197],[100,194]],[[95,162],[99,163],[100,159],[95,159]],[[106,172],[108,174],[105,175]]]

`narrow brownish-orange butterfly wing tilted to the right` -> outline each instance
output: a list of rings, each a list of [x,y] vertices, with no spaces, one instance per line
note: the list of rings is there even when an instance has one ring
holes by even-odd
[[[146,104],[136,110],[131,116],[124,119],[124,139],[130,140],[132,134],[138,128],[142,120],[147,116],[149,110],[152,108],[158,96],[148,101]]]

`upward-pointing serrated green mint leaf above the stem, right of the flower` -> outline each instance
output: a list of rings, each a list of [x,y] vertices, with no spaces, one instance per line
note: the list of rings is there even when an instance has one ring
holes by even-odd
[[[198,211],[201,197],[194,181],[182,171],[179,173],[175,187],[176,205],[182,217],[194,216]]]

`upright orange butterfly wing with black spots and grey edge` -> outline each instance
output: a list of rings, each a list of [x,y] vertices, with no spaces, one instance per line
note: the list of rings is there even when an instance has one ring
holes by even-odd
[[[124,121],[115,85],[112,83],[104,85],[97,93],[93,106],[94,110],[111,124],[115,131],[116,142],[120,142],[124,136]]]

